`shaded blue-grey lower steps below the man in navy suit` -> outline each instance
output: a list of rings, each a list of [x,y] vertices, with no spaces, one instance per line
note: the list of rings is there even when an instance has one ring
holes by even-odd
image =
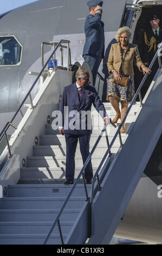
[[[69,187],[61,184],[10,185],[9,197],[3,198],[1,202],[1,245],[43,244],[69,190]],[[73,228],[84,203],[82,186],[79,185],[60,220],[64,240]],[[61,243],[58,227],[48,243]]]

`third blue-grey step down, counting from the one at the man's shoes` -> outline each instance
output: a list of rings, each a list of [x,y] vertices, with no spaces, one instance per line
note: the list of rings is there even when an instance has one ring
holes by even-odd
[[[80,210],[64,210],[60,221],[75,221]],[[42,209],[14,209],[14,210],[0,210],[1,221],[55,221],[59,210],[42,210]]]

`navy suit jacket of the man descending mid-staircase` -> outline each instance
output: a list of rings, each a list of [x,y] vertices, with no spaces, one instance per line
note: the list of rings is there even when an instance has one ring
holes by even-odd
[[[92,126],[89,127],[89,119],[87,120],[89,115],[84,114],[86,111],[89,111],[90,113],[92,104],[101,114],[102,118],[107,117],[105,107],[94,87],[89,85],[85,86],[81,100],[79,100],[76,83],[64,87],[60,102],[60,112],[62,113],[62,116],[60,115],[59,117],[59,126],[63,127],[64,133],[74,135],[85,135],[92,133]],[[68,107],[67,113],[64,113],[64,107]],[[70,125],[73,124],[75,129],[70,129]]]

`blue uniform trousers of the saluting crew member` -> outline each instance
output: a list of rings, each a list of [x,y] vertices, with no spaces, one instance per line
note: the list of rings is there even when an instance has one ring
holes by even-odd
[[[86,62],[89,63],[90,69],[92,70],[93,75],[93,86],[95,86],[96,76],[98,73],[98,69],[101,63],[102,58],[100,56],[86,54],[83,56]]]

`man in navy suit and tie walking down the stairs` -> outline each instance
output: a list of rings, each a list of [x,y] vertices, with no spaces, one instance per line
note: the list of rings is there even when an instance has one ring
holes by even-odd
[[[100,101],[96,89],[89,86],[89,74],[86,69],[80,68],[76,72],[76,83],[65,87],[60,103],[59,131],[66,138],[67,159],[66,179],[64,184],[74,183],[75,151],[79,139],[83,163],[89,155],[89,141],[92,133],[91,107],[92,103],[100,112],[105,124],[110,123],[105,107]],[[89,161],[85,168],[87,184],[92,182],[92,163]]]

